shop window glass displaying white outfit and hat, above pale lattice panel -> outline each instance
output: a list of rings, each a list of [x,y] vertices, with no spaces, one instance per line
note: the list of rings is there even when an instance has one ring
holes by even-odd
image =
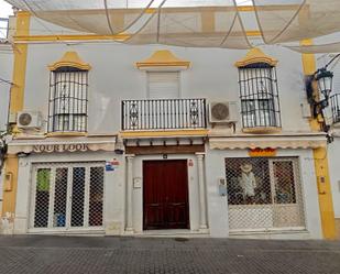
[[[229,205],[295,204],[292,161],[226,160]]]

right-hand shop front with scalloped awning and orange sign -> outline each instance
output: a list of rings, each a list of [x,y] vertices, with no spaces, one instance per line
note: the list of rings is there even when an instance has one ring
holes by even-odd
[[[320,239],[312,147],[325,145],[321,135],[310,134],[210,138],[211,235]]]

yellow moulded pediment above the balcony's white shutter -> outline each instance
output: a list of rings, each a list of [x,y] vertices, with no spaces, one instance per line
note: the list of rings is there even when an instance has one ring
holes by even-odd
[[[136,63],[138,68],[164,66],[188,68],[190,66],[190,62],[179,59],[171,51],[164,50],[157,51],[153,53],[150,58]]]

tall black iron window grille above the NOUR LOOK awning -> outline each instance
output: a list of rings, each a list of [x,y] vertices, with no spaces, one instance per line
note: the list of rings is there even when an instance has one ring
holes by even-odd
[[[48,132],[86,132],[88,72],[63,67],[51,73]]]

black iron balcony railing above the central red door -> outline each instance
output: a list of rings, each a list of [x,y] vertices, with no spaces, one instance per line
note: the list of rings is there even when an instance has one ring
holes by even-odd
[[[122,101],[122,130],[206,129],[206,99]]]

